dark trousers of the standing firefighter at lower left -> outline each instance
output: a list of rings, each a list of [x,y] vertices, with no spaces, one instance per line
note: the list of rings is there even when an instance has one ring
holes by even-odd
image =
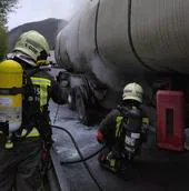
[[[42,141],[27,138],[13,149],[0,147],[0,191],[38,191],[41,187]]]

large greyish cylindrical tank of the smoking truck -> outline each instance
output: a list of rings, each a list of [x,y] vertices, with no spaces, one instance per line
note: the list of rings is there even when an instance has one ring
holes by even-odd
[[[188,0],[91,0],[59,32],[56,60],[116,91],[151,72],[189,74],[188,10]]]

